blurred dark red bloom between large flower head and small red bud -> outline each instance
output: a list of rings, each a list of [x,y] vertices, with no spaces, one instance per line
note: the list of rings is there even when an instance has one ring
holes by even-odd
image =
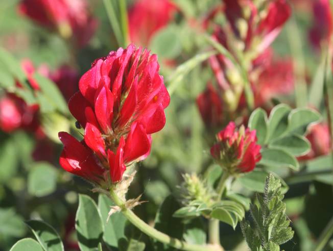
[[[207,127],[221,125],[223,120],[222,98],[210,83],[206,90],[197,97],[197,105]]]

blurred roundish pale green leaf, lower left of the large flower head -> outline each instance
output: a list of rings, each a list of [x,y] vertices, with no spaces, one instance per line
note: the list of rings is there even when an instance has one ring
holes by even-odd
[[[54,192],[56,186],[56,168],[47,162],[37,162],[29,172],[28,192],[36,197],[42,197]]]

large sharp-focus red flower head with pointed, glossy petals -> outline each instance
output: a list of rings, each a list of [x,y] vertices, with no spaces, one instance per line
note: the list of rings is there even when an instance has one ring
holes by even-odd
[[[129,45],[97,59],[69,101],[84,128],[84,141],[59,133],[61,166],[102,184],[122,180],[126,165],[147,157],[151,134],[165,124],[170,96],[159,75],[157,56]]]

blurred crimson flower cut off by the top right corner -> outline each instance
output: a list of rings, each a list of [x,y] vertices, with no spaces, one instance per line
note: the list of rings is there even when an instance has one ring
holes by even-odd
[[[315,0],[312,4],[314,25],[309,32],[310,41],[316,48],[322,41],[329,43],[333,29],[329,0]]]

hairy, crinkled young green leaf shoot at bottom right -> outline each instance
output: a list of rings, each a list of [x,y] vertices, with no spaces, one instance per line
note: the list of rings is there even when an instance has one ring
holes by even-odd
[[[286,204],[282,202],[280,181],[269,174],[264,194],[256,194],[256,198],[258,204],[250,207],[251,221],[241,223],[246,242],[252,251],[280,250],[279,245],[294,236],[286,216]]]

